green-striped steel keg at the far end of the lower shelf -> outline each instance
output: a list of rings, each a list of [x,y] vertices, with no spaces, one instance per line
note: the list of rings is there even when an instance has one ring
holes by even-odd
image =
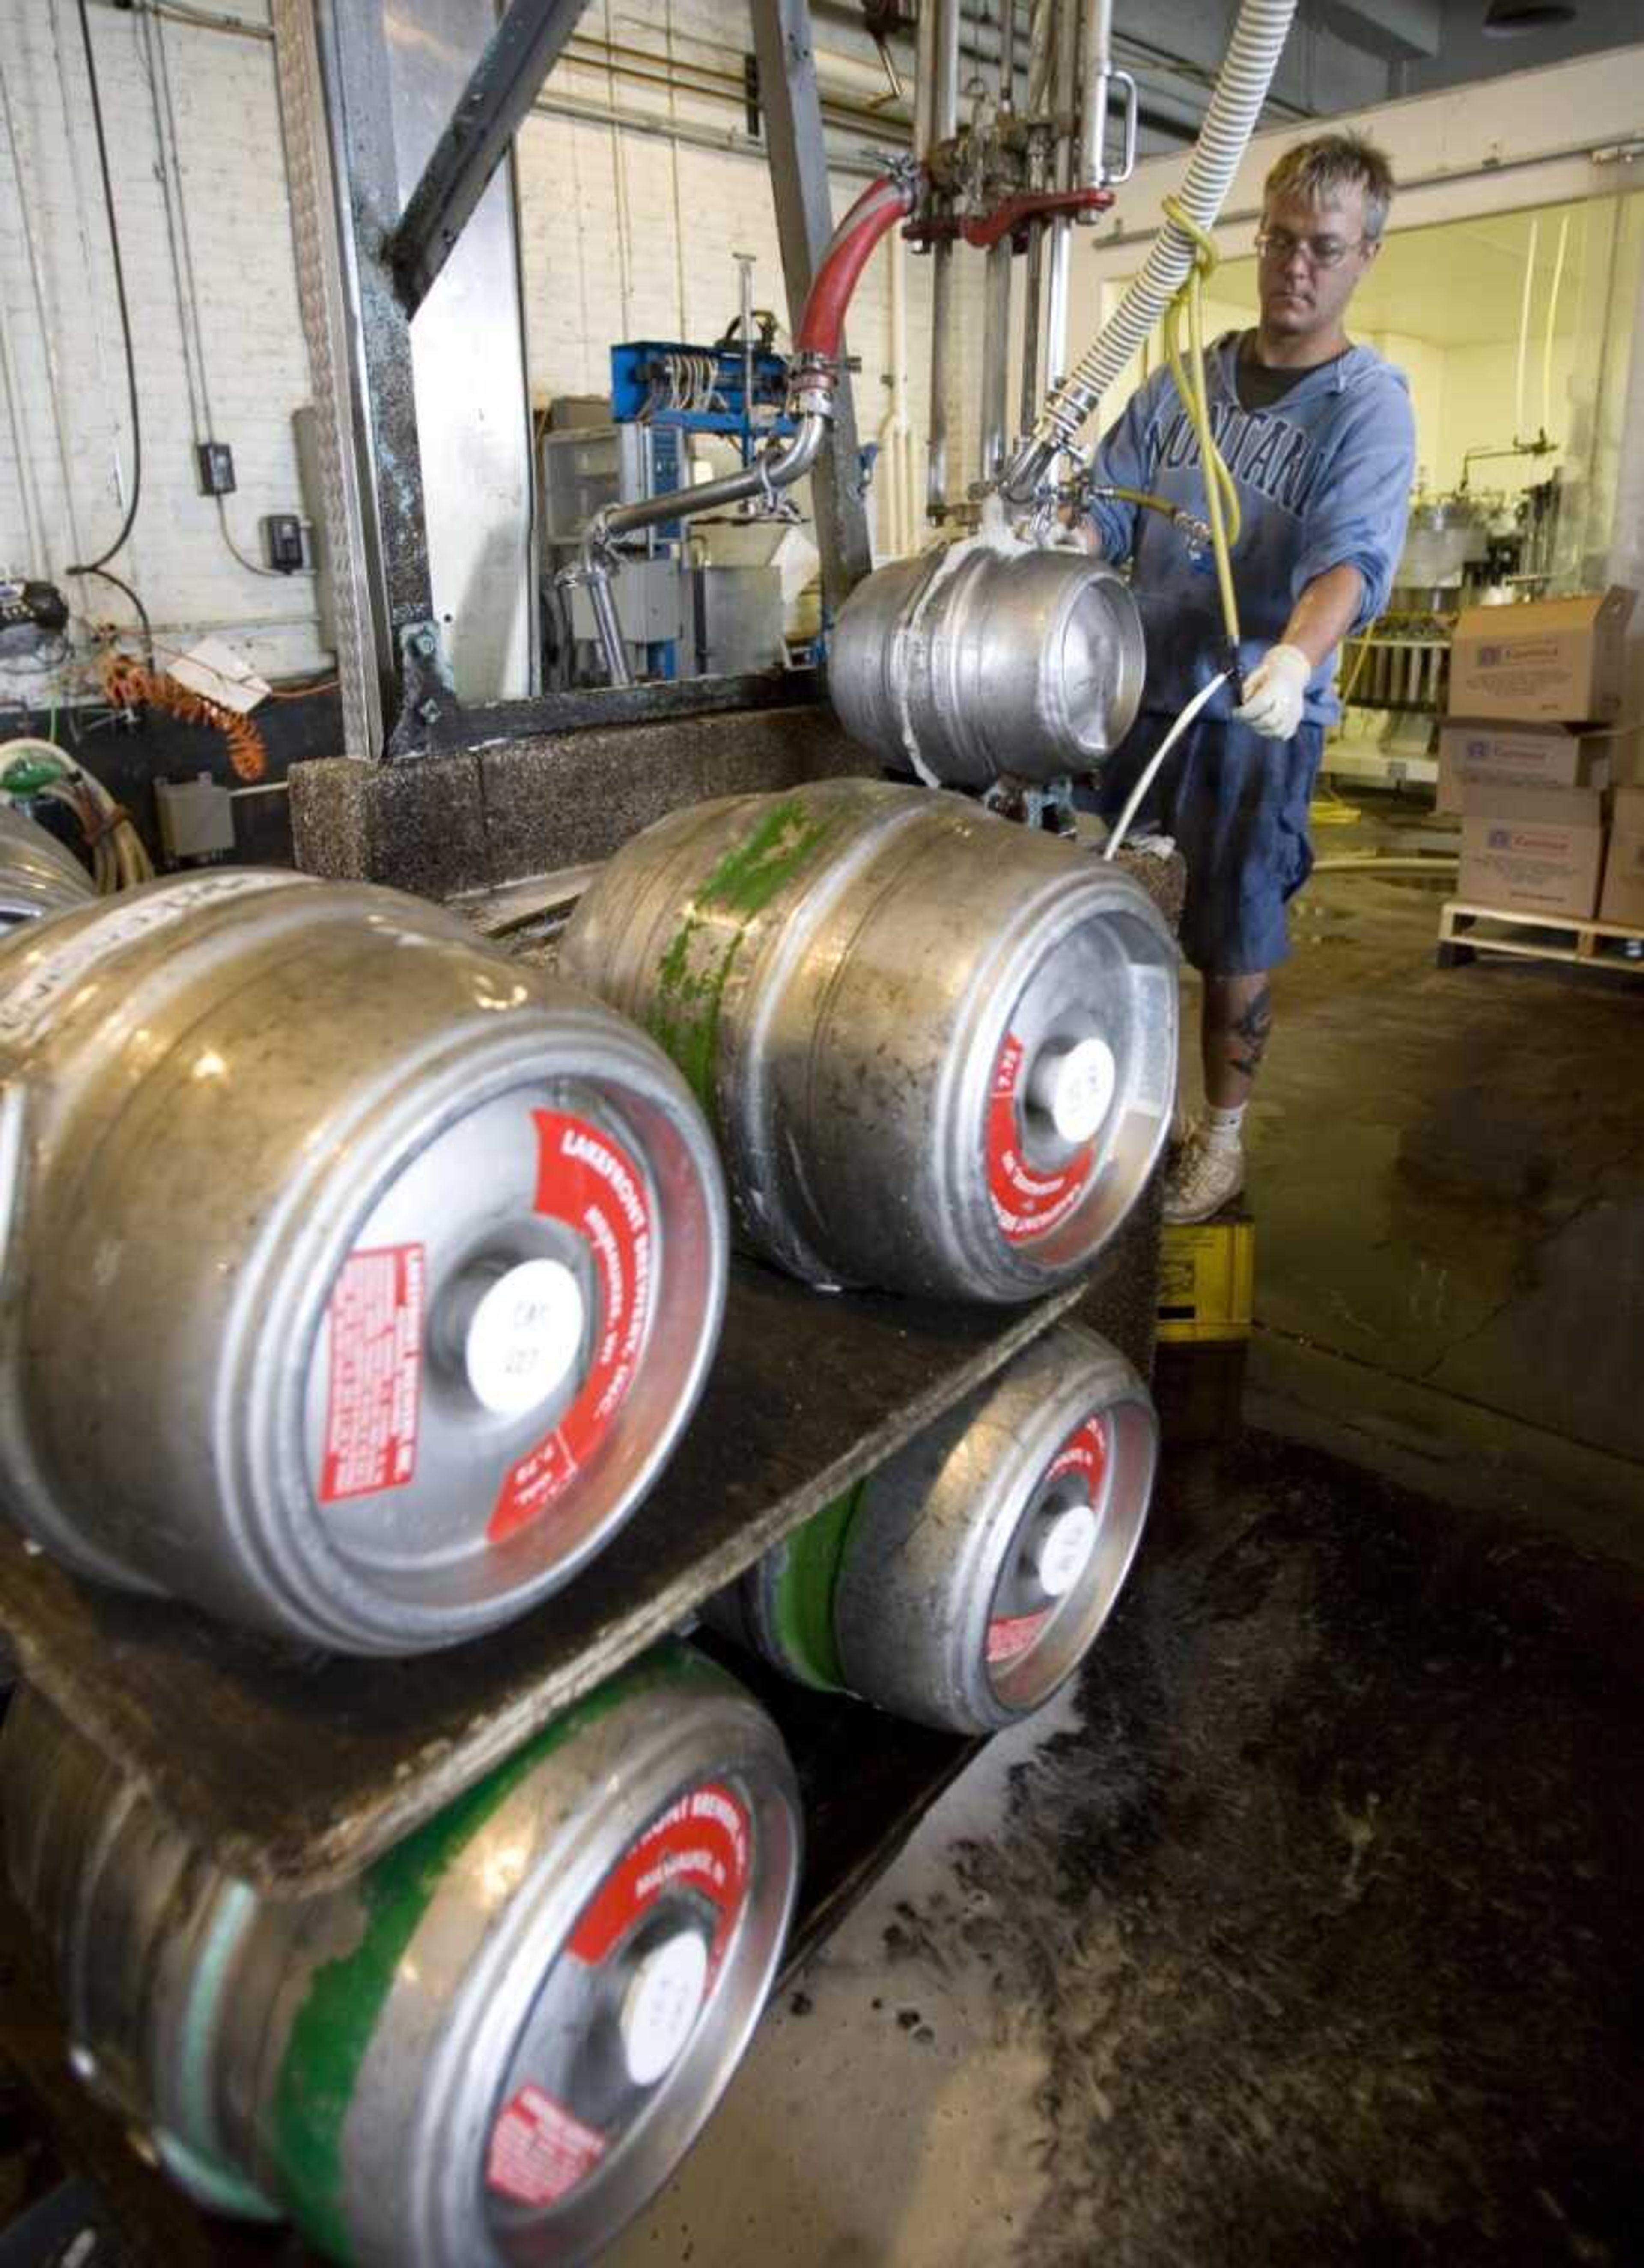
[[[1095,1644],[1156,1458],[1143,1381],[1061,1325],[769,1551],[707,1622],[803,1685],[993,1733]]]

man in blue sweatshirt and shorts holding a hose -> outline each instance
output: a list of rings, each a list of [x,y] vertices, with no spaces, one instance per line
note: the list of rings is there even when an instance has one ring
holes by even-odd
[[[1388,603],[1415,472],[1404,372],[1354,347],[1345,315],[1381,249],[1385,156],[1351,134],[1288,150],[1256,234],[1261,320],[1206,352],[1211,426],[1238,483],[1234,547],[1243,705],[1222,687],[1150,789],[1141,826],[1188,862],[1181,943],[1204,975],[1204,1114],[1170,1161],[1166,1220],[1209,1220],[1245,1186],[1243,1118],[1272,1030],[1270,971],[1286,900],[1313,866],[1308,803],[1336,717],[1336,649]],[[1204,517],[1200,447],[1168,372],[1132,397],[1095,451],[1093,483],[1138,488]],[[1209,556],[1159,513],[1091,506],[1104,558],[1132,560],[1147,631],[1143,710],[1102,778],[1118,814],[1186,701],[1227,658]]]

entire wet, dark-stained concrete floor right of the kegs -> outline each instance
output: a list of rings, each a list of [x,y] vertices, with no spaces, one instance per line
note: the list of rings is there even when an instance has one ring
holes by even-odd
[[[1440,896],[1308,887],[1247,1427],[621,2268],[1644,2259],[1644,980]]]

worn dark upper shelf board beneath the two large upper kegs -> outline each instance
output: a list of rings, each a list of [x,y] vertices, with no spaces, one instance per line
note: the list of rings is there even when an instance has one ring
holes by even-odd
[[[0,1542],[23,1674],[220,1864],[297,1898],[358,1873],[531,1733],[932,1424],[1079,1300],[825,1297],[737,1261],[703,1406],[560,1594],[410,1660],[297,1653]]]

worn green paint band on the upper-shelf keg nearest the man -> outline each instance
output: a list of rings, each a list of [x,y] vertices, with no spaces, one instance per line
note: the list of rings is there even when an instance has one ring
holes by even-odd
[[[832,832],[832,819],[812,819],[798,796],[771,805],[753,835],[707,875],[658,966],[651,1036],[678,1064],[692,1093],[714,1116],[719,1007],[748,923],[794,880]],[[730,914],[732,921],[710,921]],[[698,937],[707,950],[698,962]]]

